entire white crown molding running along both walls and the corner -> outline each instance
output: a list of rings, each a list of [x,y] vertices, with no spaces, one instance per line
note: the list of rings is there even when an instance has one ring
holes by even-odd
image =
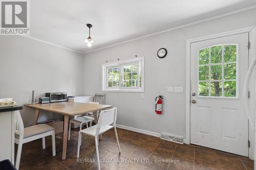
[[[125,41],[122,41],[122,42],[114,43],[112,45],[106,45],[106,46],[103,46],[103,47],[100,47],[100,48],[96,48],[95,50],[91,50],[91,51],[88,51],[88,52],[76,51],[76,50],[73,50],[71,48],[68,48],[68,47],[65,47],[65,46],[61,46],[61,45],[58,45],[58,44],[55,44],[55,43],[52,43],[52,42],[49,42],[49,41],[41,40],[39,38],[35,38],[35,37],[32,37],[32,36],[23,36],[23,35],[21,35],[21,36],[26,37],[26,38],[30,38],[30,39],[33,39],[33,40],[36,40],[36,41],[40,41],[40,42],[43,42],[43,43],[46,43],[46,44],[50,44],[50,45],[53,45],[53,46],[56,46],[56,47],[59,47],[59,48],[63,48],[65,50],[76,52],[76,53],[79,53],[79,54],[88,54],[88,53],[92,53],[92,52],[95,52],[95,51],[102,50],[104,48],[109,48],[109,47],[112,47],[112,46],[124,44],[124,43],[127,43],[127,42],[131,42],[131,41],[135,41],[135,40],[138,40],[138,39],[154,36],[154,35],[157,35],[157,34],[166,33],[166,32],[169,32],[169,31],[181,29],[181,28],[188,27],[188,26],[193,26],[193,25],[196,25],[196,24],[201,23],[201,22],[205,22],[205,21],[221,18],[221,17],[224,17],[224,16],[240,13],[240,12],[243,12],[243,11],[248,11],[248,10],[251,10],[251,9],[254,9],[254,8],[256,8],[256,5],[253,5],[253,6],[250,6],[250,7],[246,7],[246,8],[242,8],[242,9],[235,10],[235,11],[231,11],[231,12],[228,12],[228,13],[225,13],[225,14],[216,15],[216,16],[213,16],[213,17],[201,19],[201,20],[198,20],[198,21],[195,21],[195,22],[186,23],[184,25],[173,27],[173,28],[169,28],[169,29],[162,30],[162,31],[159,31],[159,32],[155,32],[155,33],[151,33],[151,34],[146,34],[146,35],[143,35],[143,36],[140,36],[140,37],[137,37],[137,38],[133,38],[133,39],[125,40]]]

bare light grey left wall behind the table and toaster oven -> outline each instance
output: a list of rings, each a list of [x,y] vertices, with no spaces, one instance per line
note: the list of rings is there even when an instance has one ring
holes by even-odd
[[[0,99],[13,98],[19,105],[45,92],[82,93],[82,55],[22,36],[0,37]],[[24,125],[33,123],[34,109],[20,111]],[[62,118],[41,112],[38,121]]]

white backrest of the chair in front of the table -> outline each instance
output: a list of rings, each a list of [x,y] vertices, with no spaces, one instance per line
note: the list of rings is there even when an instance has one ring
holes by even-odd
[[[102,132],[101,129],[105,129],[104,127],[116,126],[116,115],[117,108],[101,111],[99,115],[99,121],[97,124],[96,135],[100,134],[100,132]]]

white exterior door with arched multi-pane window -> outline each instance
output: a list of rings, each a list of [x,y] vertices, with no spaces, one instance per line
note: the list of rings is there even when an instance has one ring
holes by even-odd
[[[190,143],[248,156],[248,33],[191,44]]]

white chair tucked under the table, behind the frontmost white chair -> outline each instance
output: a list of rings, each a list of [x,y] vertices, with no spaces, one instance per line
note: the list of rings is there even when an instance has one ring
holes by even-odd
[[[89,104],[98,105],[98,102],[88,102]],[[98,113],[97,113],[98,115]],[[86,126],[88,128],[88,122],[90,122],[90,126],[92,126],[92,122],[94,120],[94,117],[91,115],[83,115],[80,117],[72,118],[69,121],[69,137],[68,140],[70,140],[70,133],[71,133],[71,124],[76,124],[80,126],[80,130],[82,130],[82,125],[86,123]]]

